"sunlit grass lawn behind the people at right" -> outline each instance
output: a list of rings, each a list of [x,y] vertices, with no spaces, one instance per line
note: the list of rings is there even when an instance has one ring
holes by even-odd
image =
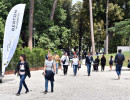
[[[123,54],[125,55],[125,61],[124,61],[123,66],[128,66],[128,59],[130,59],[130,51],[129,51],[129,52],[123,52]],[[109,66],[109,58],[110,58],[111,55],[112,55],[112,56],[114,57],[114,59],[115,59],[116,53],[105,55],[106,60],[107,60],[106,66]],[[97,56],[94,56],[94,59],[95,59],[96,57],[97,57]],[[99,56],[100,59],[101,59],[101,57],[102,57],[102,55]]]

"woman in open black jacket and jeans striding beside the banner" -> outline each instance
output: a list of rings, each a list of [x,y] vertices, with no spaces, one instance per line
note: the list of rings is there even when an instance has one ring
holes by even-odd
[[[19,85],[19,90],[18,90],[16,96],[19,96],[20,92],[22,90],[22,85],[26,89],[25,93],[29,92],[29,89],[25,83],[25,79],[26,79],[26,76],[28,76],[29,78],[31,77],[29,65],[28,65],[28,62],[26,61],[26,56],[24,54],[20,55],[20,61],[18,62],[18,65],[15,69],[14,74],[16,74],[17,72],[20,75],[20,85]]]

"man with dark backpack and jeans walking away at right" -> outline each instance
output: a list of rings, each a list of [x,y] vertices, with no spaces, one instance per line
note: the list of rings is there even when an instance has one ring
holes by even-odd
[[[118,80],[120,79],[123,61],[125,60],[125,57],[124,57],[124,55],[121,52],[122,52],[122,50],[119,49],[118,53],[115,56],[116,73],[118,75]]]

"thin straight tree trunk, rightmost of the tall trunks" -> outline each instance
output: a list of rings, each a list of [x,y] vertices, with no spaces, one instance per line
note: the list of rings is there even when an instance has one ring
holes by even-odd
[[[108,6],[109,6],[109,0],[107,0],[107,6],[106,6],[106,54],[108,54]]]

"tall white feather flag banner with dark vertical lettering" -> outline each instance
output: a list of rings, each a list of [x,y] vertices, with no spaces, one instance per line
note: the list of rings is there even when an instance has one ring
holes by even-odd
[[[9,65],[9,62],[16,50],[23,22],[25,6],[26,4],[18,4],[14,6],[8,14],[5,24],[3,43],[2,75],[4,75],[5,69]]]

